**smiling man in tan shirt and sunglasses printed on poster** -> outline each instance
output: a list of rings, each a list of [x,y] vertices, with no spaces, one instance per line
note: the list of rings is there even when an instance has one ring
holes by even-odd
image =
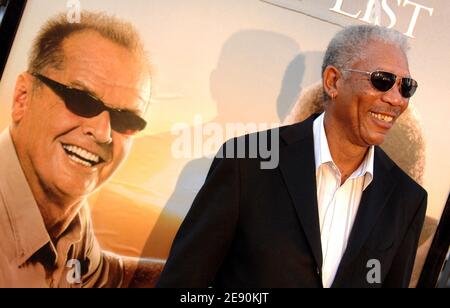
[[[150,85],[130,24],[83,12],[42,27],[0,134],[0,287],[155,283],[162,262],[100,248],[86,201],[145,128]]]

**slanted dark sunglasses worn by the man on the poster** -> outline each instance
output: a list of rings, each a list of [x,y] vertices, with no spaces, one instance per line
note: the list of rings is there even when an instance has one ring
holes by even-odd
[[[86,91],[63,85],[41,74],[33,73],[32,75],[52,89],[64,101],[66,108],[77,116],[93,118],[108,111],[111,128],[124,135],[134,135],[147,125],[147,122],[134,112],[110,108]]]

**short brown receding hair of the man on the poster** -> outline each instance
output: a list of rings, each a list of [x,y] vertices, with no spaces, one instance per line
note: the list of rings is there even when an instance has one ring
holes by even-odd
[[[45,23],[33,42],[28,72],[40,73],[50,67],[62,69],[64,65],[62,42],[72,34],[88,30],[95,31],[129,50],[150,70],[144,45],[130,23],[104,13],[83,11],[79,23],[70,23],[66,14],[59,14]]]

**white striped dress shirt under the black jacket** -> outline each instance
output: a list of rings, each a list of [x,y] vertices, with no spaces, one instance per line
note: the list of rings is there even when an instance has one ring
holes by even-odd
[[[369,148],[361,165],[341,185],[341,173],[328,147],[324,115],[314,121],[313,133],[323,256],[322,283],[329,288],[347,247],[362,193],[373,179],[374,147]]]

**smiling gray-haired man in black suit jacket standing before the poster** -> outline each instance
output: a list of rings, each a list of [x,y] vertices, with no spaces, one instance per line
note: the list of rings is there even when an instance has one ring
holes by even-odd
[[[395,30],[339,32],[325,112],[271,132],[275,169],[215,159],[158,285],[407,287],[427,193],[378,147],[417,88],[407,49]]]

